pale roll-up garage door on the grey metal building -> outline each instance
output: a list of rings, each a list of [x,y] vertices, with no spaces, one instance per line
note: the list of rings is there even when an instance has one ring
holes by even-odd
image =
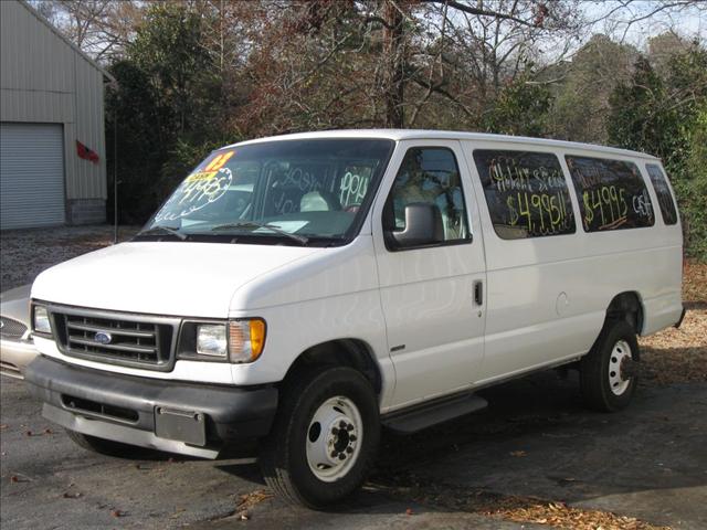
[[[0,227],[64,222],[63,128],[0,124]]]

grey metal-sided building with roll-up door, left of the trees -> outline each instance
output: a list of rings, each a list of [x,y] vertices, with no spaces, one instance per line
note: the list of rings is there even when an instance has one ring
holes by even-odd
[[[106,221],[106,78],[23,0],[0,1],[0,230]]]

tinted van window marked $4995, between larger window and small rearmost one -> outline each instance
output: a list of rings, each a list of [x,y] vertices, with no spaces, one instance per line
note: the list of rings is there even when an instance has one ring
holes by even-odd
[[[653,226],[653,204],[635,163],[604,158],[564,158],[585,232]]]

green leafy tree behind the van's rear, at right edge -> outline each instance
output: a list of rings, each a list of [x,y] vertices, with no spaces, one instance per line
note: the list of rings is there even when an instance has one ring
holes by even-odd
[[[641,57],[611,97],[610,141],[659,157],[682,212],[686,253],[707,259],[707,51],[672,56],[661,77]]]

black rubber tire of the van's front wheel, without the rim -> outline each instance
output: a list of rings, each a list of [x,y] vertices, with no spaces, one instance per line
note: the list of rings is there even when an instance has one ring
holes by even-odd
[[[338,396],[350,400],[360,413],[360,448],[344,476],[336,481],[324,481],[313,473],[307,460],[309,424],[327,400]],[[285,501],[324,508],[344,499],[363,483],[373,463],[379,438],[378,400],[370,382],[361,373],[342,367],[305,370],[289,378],[281,390],[273,428],[261,445],[263,477]]]

